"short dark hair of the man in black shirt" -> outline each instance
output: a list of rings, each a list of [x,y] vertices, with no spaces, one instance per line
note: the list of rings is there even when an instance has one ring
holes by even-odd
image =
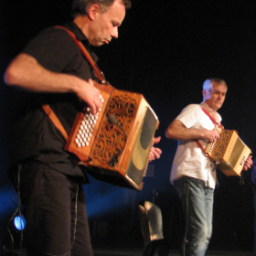
[[[77,15],[86,15],[91,5],[99,5],[101,13],[104,13],[113,4],[115,0],[73,0],[71,15],[73,17]],[[131,0],[120,0],[126,9],[131,8]]]

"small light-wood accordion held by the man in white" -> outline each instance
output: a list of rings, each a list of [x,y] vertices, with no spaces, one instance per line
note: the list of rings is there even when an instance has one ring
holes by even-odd
[[[207,146],[206,153],[226,176],[240,176],[251,149],[235,130],[221,129],[219,140]]]

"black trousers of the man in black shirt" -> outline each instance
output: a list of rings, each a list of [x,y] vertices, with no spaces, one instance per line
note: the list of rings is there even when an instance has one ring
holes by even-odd
[[[92,256],[80,179],[35,161],[20,165],[16,176],[27,221],[27,255]]]

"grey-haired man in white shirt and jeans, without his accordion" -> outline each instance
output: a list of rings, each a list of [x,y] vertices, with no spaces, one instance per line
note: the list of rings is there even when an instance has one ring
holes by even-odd
[[[202,147],[219,139],[215,126],[221,117],[217,112],[222,106],[227,84],[212,78],[203,84],[203,102],[188,105],[168,126],[165,135],[178,141],[171,169],[171,182],[181,199],[186,220],[181,255],[203,256],[208,249],[212,233],[212,209],[216,169]],[[199,142],[199,145],[196,143]],[[244,170],[251,168],[251,156]]]

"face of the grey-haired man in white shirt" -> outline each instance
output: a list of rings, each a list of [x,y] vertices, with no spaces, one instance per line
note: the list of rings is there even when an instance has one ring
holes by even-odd
[[[213,111],[218,111],[225,101],[227,86],[214,81],[210,91],[203,91],[204,100]]]

